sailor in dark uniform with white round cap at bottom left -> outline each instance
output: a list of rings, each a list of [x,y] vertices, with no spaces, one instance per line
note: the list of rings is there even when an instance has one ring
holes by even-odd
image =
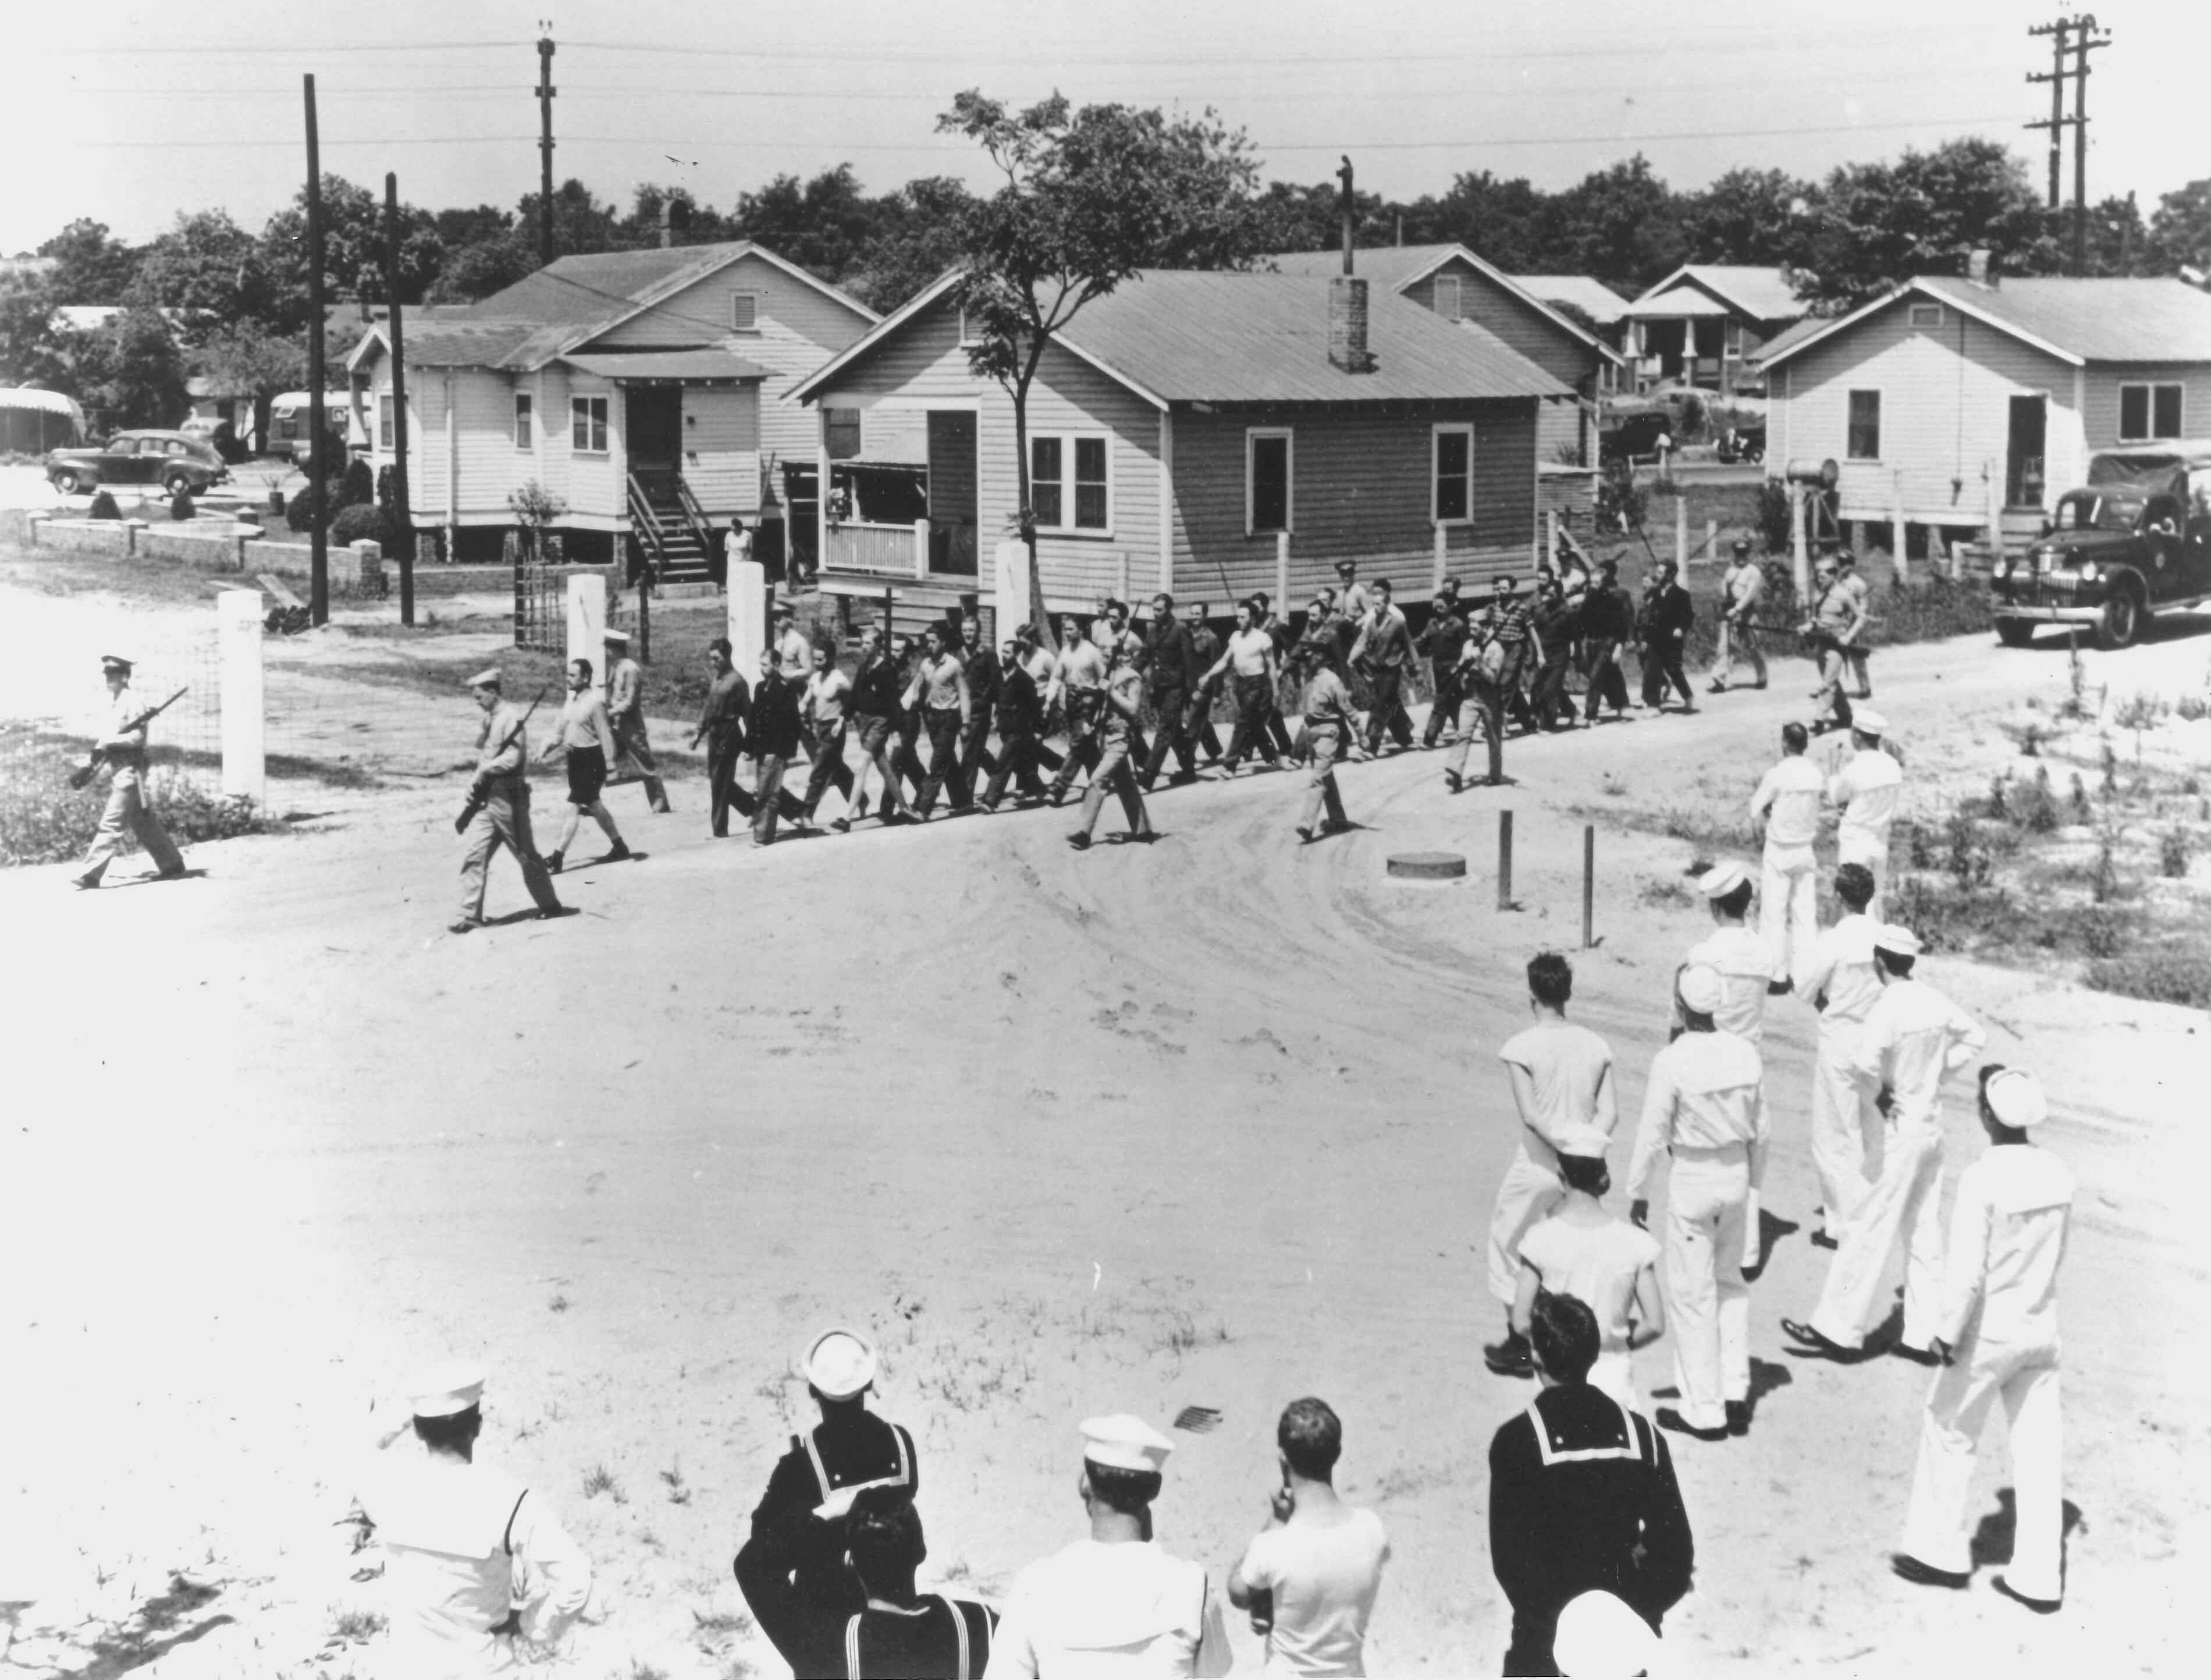
[[[842,1638],[869,1598],[845,1556],[853,1501],[891,1492],[911,1501],[922,1474],[913,1437],[867,1410],[876,1348],[865,1335],[822,1331],[800,1371],[822,1421],[794,1435],[792,1450],[776,1459],[734,1569],[752,1618],[783,1660],[798,1676],[820,1676],[831,1671],[820,1662],[822,1629]]]

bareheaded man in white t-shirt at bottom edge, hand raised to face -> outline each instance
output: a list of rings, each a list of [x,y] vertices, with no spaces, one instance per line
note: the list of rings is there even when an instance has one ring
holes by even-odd
[[[1229,1603],[1267,1636],[1271,1680],[1366,1673],[1366,1618],[1382,1592],[1389,1534],[1335,1492],[1344,1426],[1324,1399],[1293,1399],[1274,1430],[1282,1485],[1274,1519],[1229,1569]]]

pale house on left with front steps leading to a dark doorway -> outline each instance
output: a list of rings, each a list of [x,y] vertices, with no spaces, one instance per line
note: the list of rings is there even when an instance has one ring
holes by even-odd
[[[458,312],[405,323],[407,480],[451,557],[497,557],[509,495],[557,497],[570,559],[668,579],[719,568],[732,517],[780,555],[783,462],[814,462],[792,385],[880,316],[752,241],[562,256]],[[347,360],[369,460],[394,455],[389,323]]]

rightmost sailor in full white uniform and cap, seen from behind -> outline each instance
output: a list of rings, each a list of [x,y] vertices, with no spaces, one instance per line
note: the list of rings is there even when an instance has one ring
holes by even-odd
[[[1963,1585],[1972,1572],[1966,1494],[1974,1446],[2001,1397],[2012,1419],[2016,1525],[2012,1567],[1997,1578],[1997,1589],[2041,1611],[2065,1598],[2058,1264],[2074,1198],[2065,1163],[2032,1143],[2047,1114],[2034,1074],[1981,1070],[1981,1127],[1990,1149],[1957,1180],[1935,1320],[1943,1373],[1919,1428],[1904,1550],[1890,1561],[1906,1581]]]

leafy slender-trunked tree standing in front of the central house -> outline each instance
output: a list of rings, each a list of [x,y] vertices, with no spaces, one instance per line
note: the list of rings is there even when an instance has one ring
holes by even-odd
[[[953,97],[937,133],[977,141],[1006,183],[962,228],[960,305],[968,367],[1013,398],[1013,449],[1028,548],[1030,621],[1044,621],[1037,515],[1028,482],[1028,389],[1044,347],[1083,305],[1143,267],[1243,267],[1262,248],[1258,164],[1245,133],[1205,111],[1165,117],[1066,97],[1008,111],[979,88]]]

